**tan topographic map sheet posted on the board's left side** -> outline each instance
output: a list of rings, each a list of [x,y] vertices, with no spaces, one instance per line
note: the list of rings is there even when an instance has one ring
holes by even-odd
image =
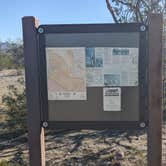
[[[84,47],[46,48],[48,100],[86,100]]]

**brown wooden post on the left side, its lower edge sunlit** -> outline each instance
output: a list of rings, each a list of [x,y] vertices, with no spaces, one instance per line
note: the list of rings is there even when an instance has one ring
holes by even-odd
[[[40,120],[39,70],[38,70],[38,21],[23,17],[26,96],[28,109],[28,141],[31,166],[45,166],[44,129]]]

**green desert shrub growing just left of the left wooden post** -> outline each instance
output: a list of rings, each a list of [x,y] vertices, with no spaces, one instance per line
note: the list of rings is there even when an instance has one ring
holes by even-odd
[[[23,87],[24,80],[19,79],[18,85],[10,85],[8,94],[2,97],[2,102],[6,106],[7,127],[10,132],[26,132],[27,130],[25,88]]]

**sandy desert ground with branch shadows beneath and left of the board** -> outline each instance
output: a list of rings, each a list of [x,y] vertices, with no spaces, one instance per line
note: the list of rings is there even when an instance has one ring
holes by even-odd
[[[17,85],[20,77],[24,74],[20,75],[16,70],[0,71],[0,161],[29,165],[27,134],[15,136],[4,132],[6,117],[2,96],[8,93],[9,85]],[[163,129],[164,139],[164,125]],[[48,166],[147,165],[146,130],[46,130],[45,135]]]

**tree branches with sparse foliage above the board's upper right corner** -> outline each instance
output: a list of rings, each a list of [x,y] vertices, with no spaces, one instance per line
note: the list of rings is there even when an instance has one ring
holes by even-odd
[[[149,12],[166,13],[166,0],[106,0],[106,4],[115,23],[145,23]]]

